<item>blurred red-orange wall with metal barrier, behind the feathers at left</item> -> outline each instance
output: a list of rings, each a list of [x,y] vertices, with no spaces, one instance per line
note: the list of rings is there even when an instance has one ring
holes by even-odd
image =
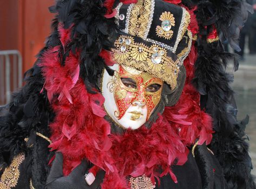
[[[0,105],[8,102],[43,48],[50,33],[53,15],[48,7],[52,4],[54,0],[0,0],[0,51],[5,51],[0,52]]]

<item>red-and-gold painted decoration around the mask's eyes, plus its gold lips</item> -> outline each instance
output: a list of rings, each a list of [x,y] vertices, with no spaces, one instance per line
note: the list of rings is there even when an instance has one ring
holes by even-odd
[[[129,71],[128,71],[129,70]],[[128,87],[122,83],[121,78],[131,78],[136,82],[136,89]],[[147,91],[147,87],[152,84],[160,85],[160,89],[155,92]],[[154,110],[155,106],[159,103],[161,98],[163,82],[159,78],[155,78],[149,73],[135,70],[128,66],[119,66],[119,72],[115,71],[114,76],[107,84],[109,92],[113,93],[117,111],[114,112],[114,116],[117,119],[121,119],[124,113],[127,111],[133,102],[139,101],[141,104],[147,106],[147,119]],[[140,114],[136,112],[132,113],[132,120],[140,118]]]

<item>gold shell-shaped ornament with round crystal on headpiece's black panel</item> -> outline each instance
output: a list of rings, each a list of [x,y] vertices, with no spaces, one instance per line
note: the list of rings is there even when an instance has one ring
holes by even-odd
[[[156,35],[163,37],[165,39],[171,39],[173,37],[172,26],[175,26],[175,18],[170,12],[163,12],[160,16],[160,21],[162,21],[161,26],[156,26]]]

